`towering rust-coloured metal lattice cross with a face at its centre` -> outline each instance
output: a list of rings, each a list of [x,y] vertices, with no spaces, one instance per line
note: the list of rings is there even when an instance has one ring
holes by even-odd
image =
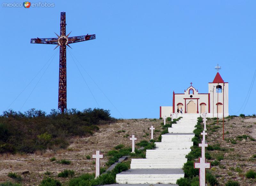
[[[30,43],[54,44],[57,45],[55,48],[60,46],[58,110],[63,113],[67,111],[66,45],[70,47],[69,44],[71,43],[95,39],[95,34],[68,37],[69,34],[66,35],[66,12],[60,12],[60,36],[57,33],[55,34],[58,38],[35,38],[31,39]]]

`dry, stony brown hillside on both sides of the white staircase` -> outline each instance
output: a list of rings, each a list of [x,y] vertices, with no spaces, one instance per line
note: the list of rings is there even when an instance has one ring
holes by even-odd
[[[4,153],[0,156],[0,182],[14,180],[7,176],[9,172],[19,173],[22,177],[23,185],[38,185],[44,178],[46,171],[52,172],[52,177],[67,182],[69,178],[58,178],[59,172],[64,169],[75,171],[76,175],[83,173],[93,173],[94,164],[92,159],[87,159],[86,155],[100,150],[106,154],[113,150],[116,145],[124,144],[130,146],[129,135],[135,134],[138,141],[149,140],[150,131],[148,128],[154,125],[156,129],[161,128],[163,120],[158,119],[130,119],[118,120],[115,123],[99,125],[100,129],[88,137],[74,137],[69,140],[67,149],[36,151],[33,154],[11,155]],[[256,179],[246,178],[248,170],[256,170],[256,118],[255,117],[228,117],[225,118],[225,140],[222,140],[222,120],[219,124],[217,120],[208,118],[207,137],[209,144],[207,161],[212,162],[211,172],[219,184],[225,185],[228,180],[238,181],[241,186],[256,185]],[[160,130],[161,131],[161,130]],[[160,132],[154,133],[154,138]],[[148,136],[147,136],[148,135]],[[56,157],[51,162],[50,158]],[[57,163],[58,160],[70,160],[70,165]],[[108,157],[105,155],[101,160],[101,167],[106,167]],[[128,160],[129,161],[129,160]],[[28,174],[21,172],[28,170]]]

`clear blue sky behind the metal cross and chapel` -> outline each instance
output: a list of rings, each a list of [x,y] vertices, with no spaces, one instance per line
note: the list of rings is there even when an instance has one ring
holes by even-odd
[[[159,106],[172,105],[172,91],[183,93],[191,81],[199,93],[207,93],[219,63],[229,82],[229,114],[256,113],[255,85],[240,109],[256,68],[255,1],[46,2],[55,7],[1,4],[0,113],[56,50],[47,70],[49,63],[9,108],[47,113],[58,108],[59,49],[30,44],[30,39],[56,37],[61,11],[70,36],[96,34],[95,40],[71,44],[69,51],[82,64],[79,70],[99,105],[67,52],[68,108],[100,107],[116,118],[158,118]]]

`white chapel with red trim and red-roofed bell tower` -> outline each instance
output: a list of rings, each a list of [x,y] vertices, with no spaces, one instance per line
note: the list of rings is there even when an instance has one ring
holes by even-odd
[[[227,117],[228,114],[228,82],[224,82],[217,72],[212,82],[208,83],[208,93],[199,93],[190,86],[184,93],[172,93],[172,106],[160,106],[160,117],[170,117],[182,108],[184,114],[201,114],[206,112],[206,117]]]

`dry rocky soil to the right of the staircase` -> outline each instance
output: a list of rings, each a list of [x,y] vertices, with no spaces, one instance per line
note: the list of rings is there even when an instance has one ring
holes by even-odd
[[[212,156],[212,160],[208,161],[218,160],[220,162],[220,165],[212,166],[212,174],[217,177],[220,185],[225,185],[228,180],[234,180],[238,181],[241,186],[255,186],[256,179],[246,178],[245,173],[250,169],[256,171],[256,158],[253,157],[256,155],[256,141],[253,141],[253,138],[256,139],[256,118],[225,118],[225,140],[222,139],[222,119],[219,120],[219,124],[216,121],[208,118],[206,122],[208,144],[220,144],[221,148],[208,151]],[[239,138],[241,135],[248,137]]]

